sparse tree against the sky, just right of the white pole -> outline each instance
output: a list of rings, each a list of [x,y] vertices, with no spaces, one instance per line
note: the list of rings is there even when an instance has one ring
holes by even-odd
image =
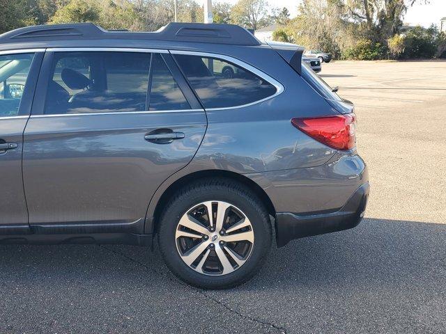
[[[272,23],[266,0],[239,0],[232,8],[231,22],[257,30]]]

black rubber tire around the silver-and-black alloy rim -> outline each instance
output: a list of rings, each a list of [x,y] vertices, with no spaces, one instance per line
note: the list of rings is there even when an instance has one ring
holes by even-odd
[[[178,253],[175,238],[183,214],[194,205],[209,200],[228,202],[240,208],[249,218],[254,232],[254,244],[245,263],[220,276],[199,273],[189,267]],[[180,280],[203,289],[226,289],[247,282],[261,269],[270,252],[271,242],[270,218],[261,200],[243,184],[224,178],[203,179],[180,189],[162,212],[158,228],[158,244],[167,267]]]

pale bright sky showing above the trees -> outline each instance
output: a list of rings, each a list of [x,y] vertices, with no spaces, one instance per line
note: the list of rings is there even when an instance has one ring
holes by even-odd
[[[229,2],[236,3],[237,0],[213,0],[213,2]],[[270,6],[278,8],[286,7],[291,13],[291,17],[297,14],[298,4],[300,0],[269,0]],[[415,4],[408,9],[403,22],[410,25],[429,27],[431,24],[440,24],[440,19],[446,17],[446,0],[429,0],[429,4]]]

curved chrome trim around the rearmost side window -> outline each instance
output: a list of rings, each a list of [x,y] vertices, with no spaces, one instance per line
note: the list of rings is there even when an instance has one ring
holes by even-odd
[[[226,56],[224,54],[214,54],[214,53],[210,53],[210,52],[199,52],[199,51],[181,51],[181,50],[169,50],[171,54],[187,54],[190,56],[202,56],[202,57],[209,57],[209,58],[217,58],[217,59],[222,59],[224,61],[229,61],[230,63],[236,64],[240,67],[242,67],[243,69],[252,72],[254,74],[256,74],[257,77],[261,77],[261,79],[268,81],[269,84],[272,84],[272,86],[275,86],[276,88],[276,93],[265,97],[262,100],[258,100],[258,101],[254,101],[248,104],[242,104],[240,106],[227,106],[227,107],[223,107],[223,108],[209,108],[206,109],[206,111],[217,111],[217,110],[228,110],[228,109],[239,109],[239,108],[245,108],[247,106],[252,106],[254,104],[258,104],[261,102],[265,102],[268,101],[274,97],[277,97],[278,95],[284,93],[284,85],[282,85],[279,81],[277,81],[276,79],[270,77],[268,74],[266,74],[265,72],[262,72],[261,70],[259,70],[258,68],[249,65],[247,63],[245,63],[244,61],[240,61],[237,58],[233,58],[231,56]],[[193,89],[193,88],[192,88]]]

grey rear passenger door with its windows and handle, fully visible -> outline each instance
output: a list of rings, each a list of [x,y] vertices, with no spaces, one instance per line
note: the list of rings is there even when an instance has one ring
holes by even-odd
[[[192,160],[206,114],[158,52],[47,50],[38,85],[47,89],[24,132],[36,230],[139,232],[157,187]]]

